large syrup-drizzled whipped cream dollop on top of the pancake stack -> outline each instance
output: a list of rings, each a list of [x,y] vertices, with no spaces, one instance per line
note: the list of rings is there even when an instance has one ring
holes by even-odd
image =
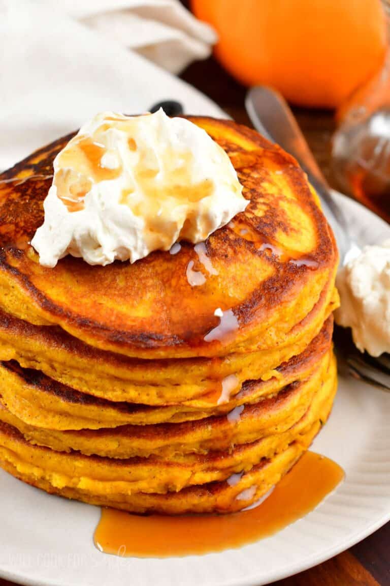
[[[178,240],[198,243],[247,206],[229,156],[184,118],[96,115],[54,159],[40,264],[67,254],[132,263]]]

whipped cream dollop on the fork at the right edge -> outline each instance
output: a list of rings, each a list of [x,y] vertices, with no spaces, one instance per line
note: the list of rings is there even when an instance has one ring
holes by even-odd
[[[352,329],[361,352],[390,352],[390,240],[357,251],[340,269],[336,285],[341,299],[336,322]]]

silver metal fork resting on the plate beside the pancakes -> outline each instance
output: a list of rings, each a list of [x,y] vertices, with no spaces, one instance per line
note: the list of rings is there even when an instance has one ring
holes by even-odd
[[[353,245],[362,247],[365,243],[351,239],[343,209],[330,192],[329,185],[287,102],[278,92],[259,86],[249,90],[245,105],[256,130],[291,153],[307,173],[309,182],[320,197],[325,216],[332,226],[343,262]],[[348,372],[356,379],[390,391],[388,354],[374,358],[367,352],[361,353],[354,345],[349,329],[336,327],[334,342],[341,372]]]

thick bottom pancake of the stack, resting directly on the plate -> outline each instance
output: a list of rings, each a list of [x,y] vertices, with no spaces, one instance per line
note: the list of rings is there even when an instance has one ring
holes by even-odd
[[[192,455],[183,462],[67,454],[34,446],[15,427],[1,423],[0,461],[25,482],[92,504],[173,515],[232,512],[264,495],[309,447],[329,415],[335,383],[332,362],[319,392],[291,430],[226,454]]]

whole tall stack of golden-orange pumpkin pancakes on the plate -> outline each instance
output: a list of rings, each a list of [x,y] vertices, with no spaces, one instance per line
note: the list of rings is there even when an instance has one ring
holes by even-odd
[[[250,200],[201,246],[44,268],[29,242],[70,137],[0,176],[0,465],[47,492],[133,512],[240,510],[329,415],[337,250],[315,193],[256,132],[190,120]]]

